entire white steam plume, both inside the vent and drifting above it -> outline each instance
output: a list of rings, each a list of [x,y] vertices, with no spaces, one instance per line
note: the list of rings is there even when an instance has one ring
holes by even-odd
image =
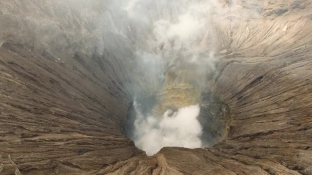
[[[126,35],[134,38],[135,60],[147,86],[150,86],[148,91],[161,91],[165,72],[182,67],[190,67],[191,77],[188,79],[194,82],[193,86],[199,89],[204,86],[207,73],[214,69],[216,61],[214,48],[207,46],[213,42],[210,16],[218,10],[218,3],[132,0],[123,10],[135,24],[128,26],[132,35]],[[134,96],[148,93],[138,87],[133,89],[138,90]],[[175,112],[168,110],[163,115],[143,114],[144,104],[136,100],[133,106],[136,118],[132,139],[147,155],[155,154],[164,146],[203,146],[200,139],[202,126],[197,119],[199,104]]]

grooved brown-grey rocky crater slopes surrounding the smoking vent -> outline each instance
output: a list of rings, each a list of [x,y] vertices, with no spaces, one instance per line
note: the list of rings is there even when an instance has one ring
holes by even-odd
[[[154,84],[107,2],[0,1],[0,174],[312,174],[311,2],[219,2],[205,92],[229,109],[225,136],[148,157],[122,128],[129,84]],[[173,85],[167,103],[187,94]]]

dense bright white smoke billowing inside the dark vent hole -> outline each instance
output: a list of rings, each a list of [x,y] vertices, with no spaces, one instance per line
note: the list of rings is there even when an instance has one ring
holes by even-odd
[[[164,146],[197,148],[202,146],[202,127],[197,120],[199,105],[182,107],[163,116],[143,116],[142,105],[134,101],[134,141],[136,146],[151,156]]]

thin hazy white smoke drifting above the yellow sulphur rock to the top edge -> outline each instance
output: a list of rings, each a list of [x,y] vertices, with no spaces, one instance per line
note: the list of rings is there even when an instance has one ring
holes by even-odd
[[[134,44],[134,61],[145,82],[142,87],[134,82],[137,80],[132,81],[134,96],[160,91],[165,74],[183,67],[192,68],[191,81],[196,81],[193,86],[205,85],[207,74],[218,61],[212,44],[216,40],[212,15],[220,11],[219,6],[215,0],[125,2],[122,9],[132,24],[125,33]]]

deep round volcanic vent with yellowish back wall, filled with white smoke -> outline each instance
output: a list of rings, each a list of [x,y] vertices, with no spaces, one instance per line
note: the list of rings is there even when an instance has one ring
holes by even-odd
[[[211,93],[189,99],[196,97],[194,91],[176,86],[136,98],[129,106],[122,133],[148,155],[165,146],[211,147],[227,134],[229,108]]]

